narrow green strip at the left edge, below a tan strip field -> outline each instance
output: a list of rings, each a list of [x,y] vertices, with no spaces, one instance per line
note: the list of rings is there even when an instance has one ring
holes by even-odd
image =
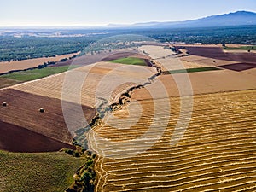
[[[38,66],[39,67],[39,66]],[[47,77],[49,75],[63,73],[66,72],[68,69],[73,69],[79,66],[61,66],[61,67],[44,67],[44,68],[37,68],[32,70],[24,70],[20,72],[8,73],[0,76],[3,79],[13,79],[20,82],[31,81],[35,79],[41,79]]]

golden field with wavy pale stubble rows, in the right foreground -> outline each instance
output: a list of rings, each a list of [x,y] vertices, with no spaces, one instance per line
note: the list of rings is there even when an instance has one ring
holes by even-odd
[[[114,114],[114,121],[106,118],[88,136],[90,148],[102,155],[96,161],[96,191],[255,191],[255,94],[256,90],[241,90],[195,96],[189,127],[175,146],[170,138],[179,98],[160,99],[159,103],[171,103],[170,119],[166,115],[154,119],[155,101],[140,101],[143,113],[137,121],[132,100],[130,116],[126,106]],[[157,130],[140,136],[164,118],[166,130],[151,146]],[[124,128],[117,129],[120,126]],[[136,142],[122,144],[136,137]],[[142,148],[147,150],[133,155]]]

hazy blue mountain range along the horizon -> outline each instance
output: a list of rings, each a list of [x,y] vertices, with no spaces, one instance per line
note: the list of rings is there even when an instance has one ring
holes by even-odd
[[[131,25],[109,24],[107,26],[1,26],[0,29],[160,29],[249,25],[256,25],[256,13],[236,11],[230,14],[212,15],[197,20],[185,21],[145,22]]]

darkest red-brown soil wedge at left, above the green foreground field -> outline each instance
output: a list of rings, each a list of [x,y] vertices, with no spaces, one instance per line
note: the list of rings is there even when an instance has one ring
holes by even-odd
[[[50,152],[74,146],[61,143],[23,127],[0,121],[0,149],[10,152]]]

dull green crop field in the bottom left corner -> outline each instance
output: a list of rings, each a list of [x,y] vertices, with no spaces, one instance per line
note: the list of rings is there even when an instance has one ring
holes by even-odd
[[[65,153],[0,151],[0,191],[64,191],[84,160]]]

